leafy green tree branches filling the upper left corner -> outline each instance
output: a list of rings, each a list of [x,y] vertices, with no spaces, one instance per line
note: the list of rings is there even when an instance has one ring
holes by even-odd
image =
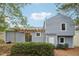
[[[6,21],[6,17],[10,19],[23,19],[23,15],[21,12],[21,8],[23,8],[27,4],[21,3],[0,3],[0,31],[4,31],[8,24]]]

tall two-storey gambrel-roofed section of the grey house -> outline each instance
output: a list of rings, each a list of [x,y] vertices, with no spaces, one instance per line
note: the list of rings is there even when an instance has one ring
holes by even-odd
[[[73,47],[75,25],[71,18],[58,14],[45,21],[44,29],[47,42],[55,46],[68,44],[69,48]]]

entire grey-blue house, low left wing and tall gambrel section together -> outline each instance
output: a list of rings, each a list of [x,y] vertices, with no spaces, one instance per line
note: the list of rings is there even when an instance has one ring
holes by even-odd
[[[75,26],[70,17],[58,14],[44,22],[43,28],[27,28],[6,32],[6,42],[48,42],[55,46],[67,43],[73,48]]]

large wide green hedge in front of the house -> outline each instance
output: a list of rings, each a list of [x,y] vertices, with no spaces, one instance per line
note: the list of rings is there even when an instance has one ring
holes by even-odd
[[[16,43],[11,48],[11,55],[14,56],[52,56],[54,46],[48,43]]]

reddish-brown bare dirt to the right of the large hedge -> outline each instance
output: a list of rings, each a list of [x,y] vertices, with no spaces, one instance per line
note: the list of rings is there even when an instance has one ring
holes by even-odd
[[[55,56],[79,56],[79,48],[72,48],[72,49],[55,49]]]

